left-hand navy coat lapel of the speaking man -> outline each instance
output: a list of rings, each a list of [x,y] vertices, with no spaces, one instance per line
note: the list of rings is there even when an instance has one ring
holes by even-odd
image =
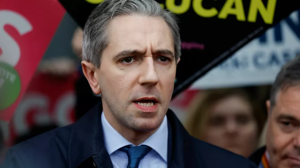
[[[69,143],[71,168],[113,168],[104,145],[101,123],[102,104],[98,103],[74,123]]]

